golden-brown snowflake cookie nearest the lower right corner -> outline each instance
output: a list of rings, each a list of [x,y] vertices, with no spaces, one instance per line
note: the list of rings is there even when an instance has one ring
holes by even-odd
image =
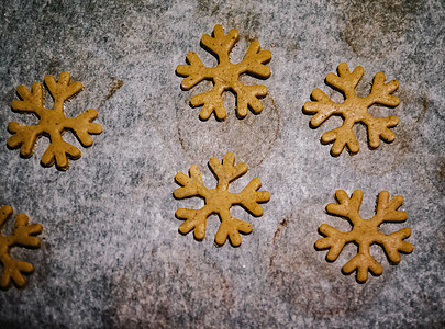
[[[405,227],[390,235],[379,232],[379,226],[385,222],[407,220],[407,212],[398,211],[403,203],[401,195],[396,195],[389,202],[389,193],[381,191],[377,200],[376,215],[370,219],[363,219],[358,214],[363,201],[363,192],[360,190],[354,191],[351,198],[345,191],[338,190],[335,192],[335,197],[338,203],[330,203],[326,206],[326,212],[347,218],[353,225],[353,229],[342,232],[327,224],[322,224],[319,231],[325,238],[318,240],[315,248],[330,249],[326,259],[333,262],[337,259],[345,245],[349,242],[356,243],[358,246],[358,253],[343,266],[344,273],[351,274],[357,270],[357,281],[360,283],[368,280],[368,271],[375,275],[382,274],[383,268],[369,253],[369,247],[374,243],[382,247],[390,262],[393,264],[400,262],[399,251],[404,253],[413,251],[413,246],[410,242],[403,241],[411,236],[410,228]]]

